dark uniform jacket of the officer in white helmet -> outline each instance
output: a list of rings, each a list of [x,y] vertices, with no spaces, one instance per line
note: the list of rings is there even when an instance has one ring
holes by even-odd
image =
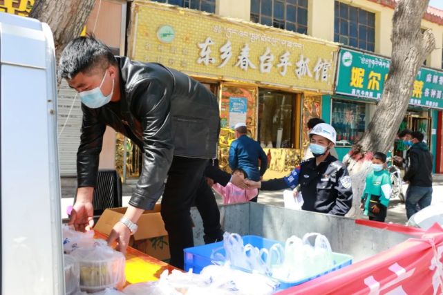
[[[304,201],[303,210],[344,216],[352,207],[348,169],[332,155],[318,166],[315,158],[305,160],[287,177],[262,182],[261,189],[294,189],[298,184]]]

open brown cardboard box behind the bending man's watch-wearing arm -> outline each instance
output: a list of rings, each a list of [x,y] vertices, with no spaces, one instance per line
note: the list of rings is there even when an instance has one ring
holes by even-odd
[[[94,229],[102,234],[109,235],[115,223],[126,212],[126,209],[126,207],[106,209]],[[142,213],[138,220],[138,230],[131,236],[129,245],[160,260],[170,258],[168,233],[164,229],[164,222],[160,215],[160,204],[155,204],[153,210]]]

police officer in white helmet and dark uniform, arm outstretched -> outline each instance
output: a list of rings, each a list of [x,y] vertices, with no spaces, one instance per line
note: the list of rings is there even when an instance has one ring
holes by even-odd
[[[300,184],[303,210],[344,216],[352,207],[352,187],[346,166],[330,155],[337,133],[330,124],[321,123],[314,126],[309,137],[314,158],[301,162],[284,178],[247,184],[263,191],[295,189]]]

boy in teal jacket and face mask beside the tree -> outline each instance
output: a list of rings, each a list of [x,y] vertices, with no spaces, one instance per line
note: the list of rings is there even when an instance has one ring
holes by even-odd
[[[390,175],[384,167],[386,166],[386,155],[374,153],[373,170],[366,176],[363,196],[361,196],[360,209],[369,220],[384,222],[388,211],[390,192],[392,190]]]

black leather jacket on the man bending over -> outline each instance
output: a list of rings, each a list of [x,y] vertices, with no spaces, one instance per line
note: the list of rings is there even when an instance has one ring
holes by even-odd
[[[82,104],[78,187],[95,187],[103,134],[111,126],[143,151],[143,169],[129,204],[152,209],[163,193],[173,155],[216,157],[218,103],[205,86],[176,70],[116,58],[120,101],[101,108]]]

